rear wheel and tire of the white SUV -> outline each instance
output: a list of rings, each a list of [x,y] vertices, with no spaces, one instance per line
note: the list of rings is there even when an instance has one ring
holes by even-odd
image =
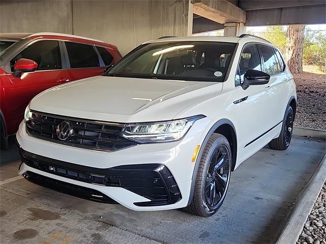
[[[291,106],[288,106],[285,111],[282,130],[278,138],[271,140],[268,143],[270,149],[286,150],[291,142],[293,132],[294,112]]]

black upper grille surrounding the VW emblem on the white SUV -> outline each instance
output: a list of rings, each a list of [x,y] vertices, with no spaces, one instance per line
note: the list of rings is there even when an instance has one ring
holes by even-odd
[[[67,138],[61,140],[57,135],[57,128],[63,121],[70,125],[71,132]],[[70,146],[98,150],[118,150],[137,145],[136,142],[121,136],[123,128],[124,124],[95,123],[89,120],[34,111],[32,112],[32,117],[26,122],[26,130],[33,137]]]

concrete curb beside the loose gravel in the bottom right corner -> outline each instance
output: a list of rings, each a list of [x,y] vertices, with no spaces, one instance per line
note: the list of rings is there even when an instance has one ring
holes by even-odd
[[[295,243],[301,235],[306,220],[326,180],[326,154],[321,159],[305,189],[298,197],[290,215],[282,226],[278,237],[273,241],[277,244]]]

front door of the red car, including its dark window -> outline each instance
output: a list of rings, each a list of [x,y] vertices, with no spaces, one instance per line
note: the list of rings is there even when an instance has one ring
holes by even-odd
[[[2,107],[8,135],[16,133],[24,110],[33,97],[70,80],[68,71],[62,69],[58,41],[40,40],[29,45],[11,60],[11,66],[20,58],[34,60],[38,68],[34,72],[22,73],[21,77],[14,77],[13,73],[1,76],[5,102]]]

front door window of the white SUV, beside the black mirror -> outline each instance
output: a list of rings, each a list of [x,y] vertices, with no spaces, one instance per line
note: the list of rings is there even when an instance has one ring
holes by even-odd
[[[235,86],[243,83],[244,73],[246,73],[248,70],[262,71],[261,60],[256,44],[248,44],[243,48],[237,73],[235,75]]]

